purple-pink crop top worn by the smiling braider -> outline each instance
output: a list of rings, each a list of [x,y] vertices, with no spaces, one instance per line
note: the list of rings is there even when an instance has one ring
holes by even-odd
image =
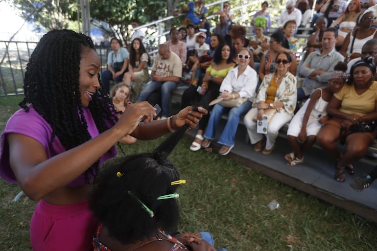
[[[5,137],[8,133],[17,133],[22,134],[27,137],[34,138],[40,142],[46,150],[47,159],[50,159],[60,153],[65,151],[65,148],[60,143],[58,137],[55,136],[54,141],[50,144],[52,129],[47,121],[38,114],[32,107],[29,105],[29,112],[26,113],[24,109],[18,110],[13,114],[5,127],[4,132],[1,134],[1,151],[0,151],[0,176],[5,181],[10,183],[17,183],[16,177],[10,167],[9,163],[9,145]],[[97,127],[95,126],[92,114],[89,109],[83,108],[84,116],[88,124],[88,131],[90,135],[96,137],[99,135]],[[102,155],[99,166],[105,160],[113,158],[117,155],[117,150],[115,146],[110,148],[104,155]],[[93,176],[88,174],[89,180]],[[84,174],[77,177],[74,181],[68,184],[68,186],[81,186],[85,184]]]

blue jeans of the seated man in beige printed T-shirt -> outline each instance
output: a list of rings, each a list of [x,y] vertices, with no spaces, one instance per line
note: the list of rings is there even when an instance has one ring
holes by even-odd
[[[138,98],[138,101],[141,102],[145,101],[146,98],[150,93],[153,91],[161,88],[161,110],[162,110],[162,116],[168,117],[169,116],[169,110],[170,110],[170,98],[171,98],[171,91],[174,91],[177,89],[177,83],[166,81],[166,82],[157,82],[157,81],[150,81],[145,88],[141,91],[140,96]]]

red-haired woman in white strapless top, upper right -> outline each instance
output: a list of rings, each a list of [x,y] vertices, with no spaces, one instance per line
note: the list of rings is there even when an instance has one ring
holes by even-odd
[[[334,22],[330,24],[330,27],[335,27],[339,24],[338,29],[338,41],[335,46],[342,46],[345,37],[348,33],[353,31],[356,25],[357,15],[361,12],[359,0],[352,0],[346,11],[340,15]]]

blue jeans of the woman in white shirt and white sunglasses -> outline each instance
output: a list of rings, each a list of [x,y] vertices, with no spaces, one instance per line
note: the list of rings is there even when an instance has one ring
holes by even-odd
[[[204,137],[212,140],[215,137],[216,126],[219,124],[222,114],[229,112],[227,124],[225,125],[218,143],[226,146],[234,145],[239,117],[246,114],[251,109],[251,105],[252,103],[250,101],[245,101],[240,107],[233,108],[223,107],[216,104],[212,109],[210,121],[208,121]]]

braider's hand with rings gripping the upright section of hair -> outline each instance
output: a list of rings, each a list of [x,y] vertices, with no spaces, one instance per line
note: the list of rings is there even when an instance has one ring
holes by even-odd
[[[188,127],[193,129],[206,114],[208,114],[208,111],[201,106],[198,107],[197,111],[194,111],[192,106],[188,106],[173,117],[173,128],[180,128],[184,124],[188,124]]]

